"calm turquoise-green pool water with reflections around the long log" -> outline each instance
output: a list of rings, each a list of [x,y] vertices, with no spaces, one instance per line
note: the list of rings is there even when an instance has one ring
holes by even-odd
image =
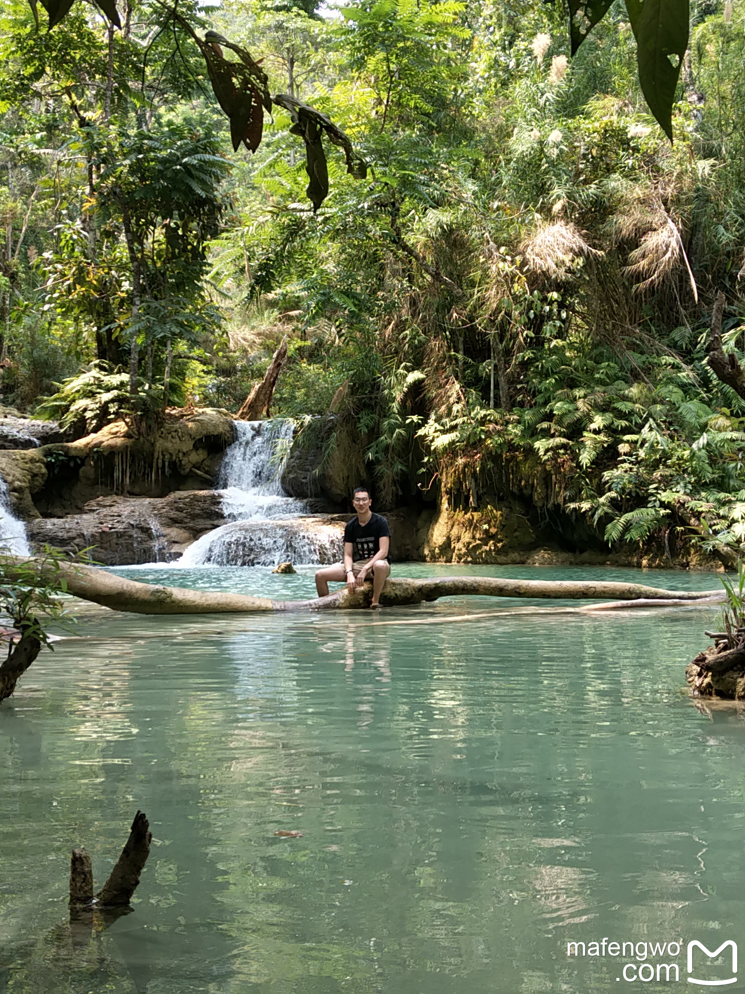
[[[126,573],[312,586],[312,571]],[[745,724],[680,693],[712,608],[556,606],[77,607],[75,636],[0,709],[0,990],[614,991],[617,962],[568,960],[567,940],[737,939]],[[74,952],[70,850],[101,882],[137,807],[155,838],[135,912]]]

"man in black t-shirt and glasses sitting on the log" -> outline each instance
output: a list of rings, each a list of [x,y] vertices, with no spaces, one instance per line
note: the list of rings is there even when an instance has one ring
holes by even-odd
[[[329,582],[347,581],[350,593],[362,586],[373,575],[373,603],[380,606],[380,591],[390,576],[390,529],[387,521],[379,514],[373,514],[370,491],[367,487],[356,487],[352,495],[357,517],[347,522],[344,530],[344,562],[327,566],[316,574],[316,589],[319,597],[329,592]]]

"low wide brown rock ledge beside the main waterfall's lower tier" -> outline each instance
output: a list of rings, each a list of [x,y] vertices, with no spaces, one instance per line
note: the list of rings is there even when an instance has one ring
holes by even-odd
[[[98,497],[79,514],[29,522],[27,534],[37,550],[45,544],[69,555],[87,549],[96,563],[129,566],[178,559],[224,520],[219,493],[177,490],[160,499]]]

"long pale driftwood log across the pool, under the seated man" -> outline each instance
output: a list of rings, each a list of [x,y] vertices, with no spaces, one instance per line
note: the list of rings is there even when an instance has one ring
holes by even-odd
[[[33,563],[32,560],[16,562]],[[39,561],[44,570],[43,561]],[[6,560],[6,575],[12,575],[12,561]],[[224,614],[255,611],[326,610],[329,608],[369,607],[372,583],[350,593],[342,587],[326,597],[311,600],[273,600],[242,593],[221,593],[208,590],[188,590],[154,583],[138,583],[104,573],[89,566],[59,564],[58,570],[67,584],[68,592],[83,600],[91,600],[118,611],[138,614]],[[59,575],[58,575],[59,576]],[[505,580],[501,577],[441,577],[410,580],[395,578],[385,581],[380,600],[398,606],[418,604],[448,596],[531,597],[559,600],[623,600],[675,601],[691,603],[714,602],[722,595],[713,590],[664,590],[642,583],[615,580]]]

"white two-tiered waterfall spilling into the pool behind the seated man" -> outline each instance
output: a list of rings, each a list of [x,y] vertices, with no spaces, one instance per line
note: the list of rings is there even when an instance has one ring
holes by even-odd
[[[235,421],[236,438],[224,455],[219,485],[229,524],[203,535],[179,560],[181,567],[299,566],[342,557],[339,529],[309,517],[307,501],[282,490],[290,452],[289,420]]]

